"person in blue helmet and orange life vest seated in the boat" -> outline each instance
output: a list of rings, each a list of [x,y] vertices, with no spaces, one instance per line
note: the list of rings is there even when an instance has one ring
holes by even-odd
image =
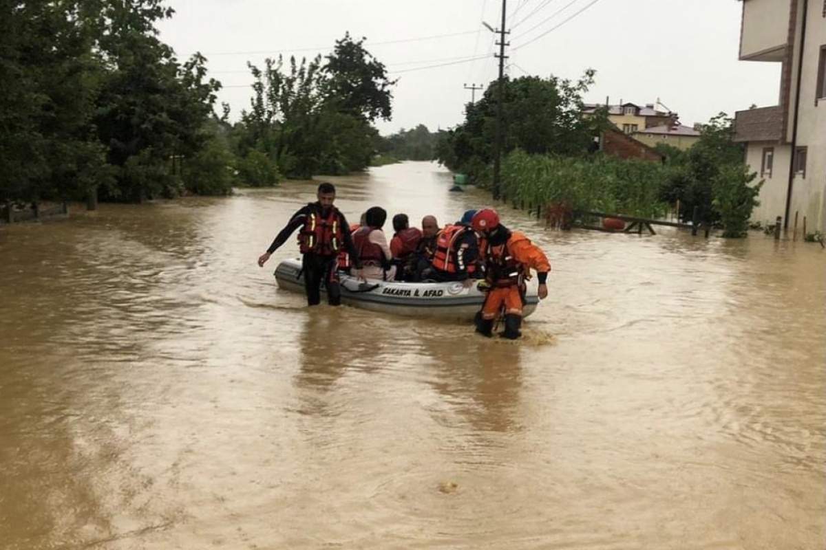
[[[436,250],[425,279],[466,280],[480,276],[479,242],[470,226],[476,210],[468,210],[457,223],[448,225],[436,236]]]

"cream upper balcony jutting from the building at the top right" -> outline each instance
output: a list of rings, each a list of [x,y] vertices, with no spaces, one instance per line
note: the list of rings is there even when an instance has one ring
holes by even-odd
[[[782,61],[789,41],[790,2],[743,0],[740,59]]]

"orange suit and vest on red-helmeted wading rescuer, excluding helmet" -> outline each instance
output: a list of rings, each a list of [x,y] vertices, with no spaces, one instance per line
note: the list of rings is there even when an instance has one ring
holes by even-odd
[[[482,319],[495,319],[504,307],[506,315],[522,315],[525,279],[530,270],[548,273],[551,264],[544,252],[525,233],[514,231],[504,245],[487,245],[487,282],[491,289],[482,305]]]

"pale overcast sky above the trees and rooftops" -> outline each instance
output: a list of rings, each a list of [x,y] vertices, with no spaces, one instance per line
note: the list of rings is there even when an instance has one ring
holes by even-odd
[[[500,26],[501,0],[167,3],[177,13],[160,25],[162,40],[182,59],[195,51],[207,56],[211,76],[225,85],[219,101],[230,104],[233,119],[249,106],[248,60],[326,54],[345,31],[367,37],[367,49],[400,78],[393,118],[377,124],[382,134],[418,124],[431,130],[456,125],[470,101],[463,84],[487,85],[496,78],[495,35],[482,21]],[[611,103],[646,104],[660,98],[686,125],[721,110],[733,114],[752,103],[777,103],[780,63],[737,59],[742,4],[736,0],[509,0],[507,5],[512,32],[506,54],[514,77],[575,79],[595,68],[596,84],[586,102],[610,96]],[[441,36],[418,40],[434,35]],[[483,59],[468,62],[477,56]],[[439,63],[453,64],[426,68]]]

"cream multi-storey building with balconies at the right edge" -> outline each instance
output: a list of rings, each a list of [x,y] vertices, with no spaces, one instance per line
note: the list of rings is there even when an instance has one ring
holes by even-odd
[[[752,219],[826,232],[826,1],[744,0],[740,59],[782,64],[779,104],[735,118],[765,181]]]

